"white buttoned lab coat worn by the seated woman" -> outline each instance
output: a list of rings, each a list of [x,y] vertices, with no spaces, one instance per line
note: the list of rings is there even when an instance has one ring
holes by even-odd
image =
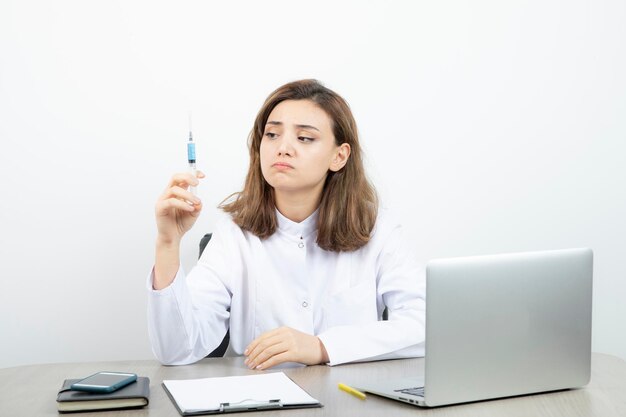
[[[341,253],[315,243],[317,211],[300,223],[276,215],[278,229],[265,240],[224,215],[188,275],[179,268],[157,291],[150,274],[148,329],[162,363],[202,359],[229,326],[226,356],[280,326],[317,335],[330,365],[424,355],[424,269],[386,210],[367,245]]]

